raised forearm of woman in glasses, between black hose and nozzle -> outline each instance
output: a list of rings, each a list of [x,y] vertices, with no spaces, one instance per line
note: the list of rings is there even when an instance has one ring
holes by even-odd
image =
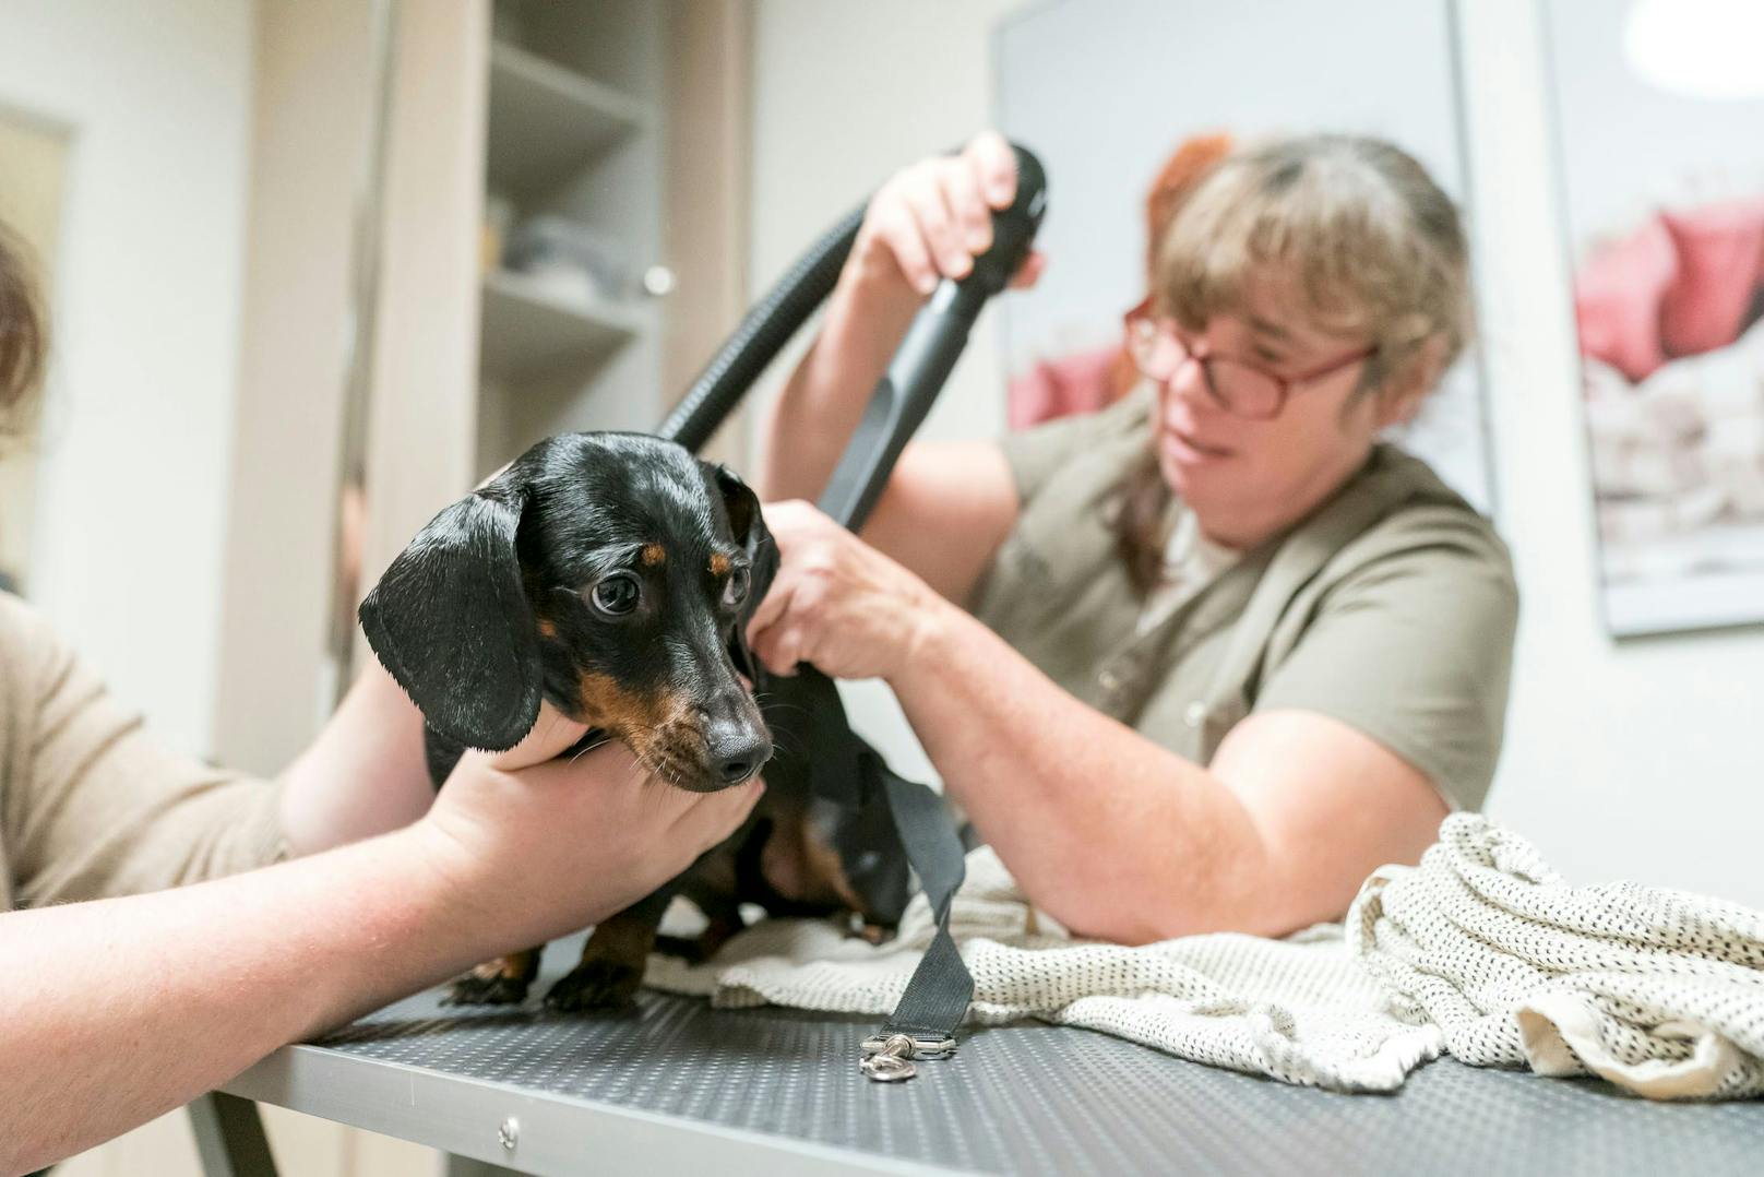
[[[815,501],[833,476],[864,404],[887,371],[923,298],[893,259],[854,259],[840,275],[820,335],[766,420],[757,489],[762,499]]]

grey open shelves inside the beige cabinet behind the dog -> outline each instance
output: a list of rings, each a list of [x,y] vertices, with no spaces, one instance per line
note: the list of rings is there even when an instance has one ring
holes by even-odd
[[[617,242],[633,274],[663,256],[665,5],[497,0],[485,196],[515,222],[561,215]],[[647,429],[662,409],[665,305],[542,284],[485,258],[478,468],[573,429]]]

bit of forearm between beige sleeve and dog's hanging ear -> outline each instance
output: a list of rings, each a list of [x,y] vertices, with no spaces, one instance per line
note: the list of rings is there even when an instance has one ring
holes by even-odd
[[[312,854],[406,826],[430,801],[423,716],[376,663],[282,771],[280,821],[289,849]]]

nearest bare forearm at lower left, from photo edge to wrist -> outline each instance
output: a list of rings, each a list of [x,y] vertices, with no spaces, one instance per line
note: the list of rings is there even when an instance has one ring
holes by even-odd
[[[0,916],[0,1172],[67,1158],[482,958],[413,828],[176,891]],[[242,912],[250,912],[249,918]]]

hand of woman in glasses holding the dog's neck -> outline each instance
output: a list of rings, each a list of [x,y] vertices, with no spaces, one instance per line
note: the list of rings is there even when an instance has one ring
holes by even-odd
[[[766,526],[781,565],[748,642],[774,674],[808,662],[833,678],[894,678],[954,607],[808,503],[767,505]]]

